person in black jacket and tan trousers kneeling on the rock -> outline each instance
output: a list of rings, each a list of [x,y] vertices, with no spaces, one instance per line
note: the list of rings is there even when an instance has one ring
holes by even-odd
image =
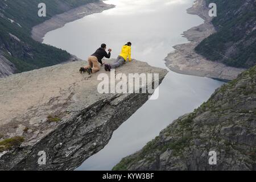
[[[80,73],[87,71],[89,74],[91,74],[100,71],[100,64],[103,65],[102,59],[104,57],[110,58],[111,56],[112,49],[109,49],[108,51],[109,53],[106,52],[106,44],[101,44],[101,47],[98,48],[90,57],[88,57],[88,65],[81,68]]]

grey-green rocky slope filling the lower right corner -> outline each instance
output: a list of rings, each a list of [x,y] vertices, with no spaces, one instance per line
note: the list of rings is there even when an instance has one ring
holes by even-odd
[[[217,164],[210,165],[210,151]],[[256,66],[114,170],[256,170]]]

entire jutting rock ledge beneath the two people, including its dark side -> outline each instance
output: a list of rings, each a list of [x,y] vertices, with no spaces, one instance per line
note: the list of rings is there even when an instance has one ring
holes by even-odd
[[[55,65],[0,79],[0,170],[72,170],[100,151],[149,94],[100,94],[99,73],[85,62]],[[117,73],[167,71],[134,60]],[[108,72],[110,75],[110,72]],[[39,166],[39,151],[46,165]]]

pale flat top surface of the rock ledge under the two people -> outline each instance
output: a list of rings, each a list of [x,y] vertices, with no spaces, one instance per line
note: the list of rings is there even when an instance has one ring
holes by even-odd
[[[113,61],[108,60],[107,62]],[[85,61],[75,61],[0,79],[1,140],[24,137],[24,142],[20,147],[33,148],[64,125],[69,125],[69,122],[77,120],[81,113],[90,118],[90,112],[94,113],[95,108],[103,110],[95,111],[101,115],[108,113],[108,109],[117,112],[115,107],[119,108],[121,113],[125,112],[120,109],[124,104],[131,108],[131,111],[125,113],[123,118],[113,118],[113,115],[110,114],[112,117],[110,120],[117,119],[121,124],[121,120],[124,122],[148,100],[148,96],[144,97],[142,94],[135,96],[133,93],[98,93],[97,87],[101,82],[97,79],[98,75],[108,74],[110,76],[110,72],[105,72],[102,68],[96,74],[81,75],[79,68],[84,65],[86,65]],[[119,73],[126,75],[129,73],[156,73],[159,74],[159,82],[161,82],[167,71],[134,60],[115,70],[115,75]],[[141,101],[136,103],[136,100]],[[110,107],[104,109],[106,105],[114,109]],[[133,105],[134,108],[132,108]],[[90,122],[89,128],[94,130],[103,127],[108,122],[108,118],[106,118],[106,122],[103,122],[101,118],[103,117],[97,117],[94,119],[94,123]],[[93,118],[90,119],[93,121]],[[86,118],[82,120],[86,120]],[[116,127],[118,126],[113,129]]]

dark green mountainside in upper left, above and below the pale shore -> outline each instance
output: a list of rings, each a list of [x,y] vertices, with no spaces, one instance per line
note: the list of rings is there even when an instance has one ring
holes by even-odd
[[[38,16],[38,4],[47,6],[47,16]],[[9,0],[0,1],[0,77],[63,63],[71,55],[36,42],[32,27],[74,7],[98,0]]]

